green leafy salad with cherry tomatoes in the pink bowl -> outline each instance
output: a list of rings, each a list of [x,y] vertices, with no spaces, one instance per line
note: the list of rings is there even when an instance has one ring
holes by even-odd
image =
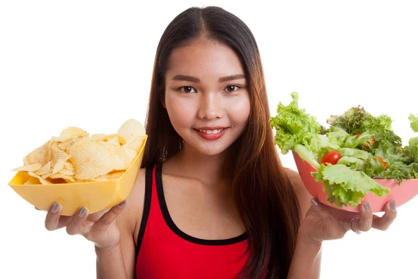
[[[301,109],[298,95],[285,106],[279,103],[277,116],[270,119],[276,130],[274,143],[282,154],[295,151],[316,168],[311,172],[323,183],[327,201],[342,206],[357,206],[372,192],[383,197],[389,189],[374,179],[418,179],[418,137],[403,146],[392,130],[386,114],[373,116],[363,107],[352,107],[327,119],[329,128]],[[418,116],[410,114],[410,126],[418,132]]]

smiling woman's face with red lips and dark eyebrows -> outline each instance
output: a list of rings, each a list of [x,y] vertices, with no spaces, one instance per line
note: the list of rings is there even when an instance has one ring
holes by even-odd
[[[185,149],[214,156],[240,137],[250,111],[244,73],[239,56],[221,43],[196,40],[171,52],[164,107]]]

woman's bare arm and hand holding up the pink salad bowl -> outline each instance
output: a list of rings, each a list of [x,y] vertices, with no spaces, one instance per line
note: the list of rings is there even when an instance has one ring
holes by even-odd
[[[359,204],[359,213],[334,209],[312,199],[297,172],[289,169],[288,177],[295,187],[301,208],[301,223],[288,272],[289,279],[318,279],[323,241],[343,238],[350,231],[352,221],[354,230],[367,232],[372,227],[385,230],[396,218],[396,209],[394,204],[391,207],[391,202],[385,205],[382,217],[373,215],[366,201]]]

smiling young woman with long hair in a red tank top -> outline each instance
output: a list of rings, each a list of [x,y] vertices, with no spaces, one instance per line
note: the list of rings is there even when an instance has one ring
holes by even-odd
[[[319,278],[321,243],[387,229],[385,215],[311,199],[274,147],[251,31],[217,7],[189,8],[157,47],[143,168],[127,201],[60,216],[95,244],[98,278]]]

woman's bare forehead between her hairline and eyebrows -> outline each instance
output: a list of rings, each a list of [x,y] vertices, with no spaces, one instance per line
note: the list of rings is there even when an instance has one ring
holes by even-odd
[[[191,75],[201,80],[244,74],[238,54],[222,43],[196,40],[173,49],[167,61],[167,78]]]

